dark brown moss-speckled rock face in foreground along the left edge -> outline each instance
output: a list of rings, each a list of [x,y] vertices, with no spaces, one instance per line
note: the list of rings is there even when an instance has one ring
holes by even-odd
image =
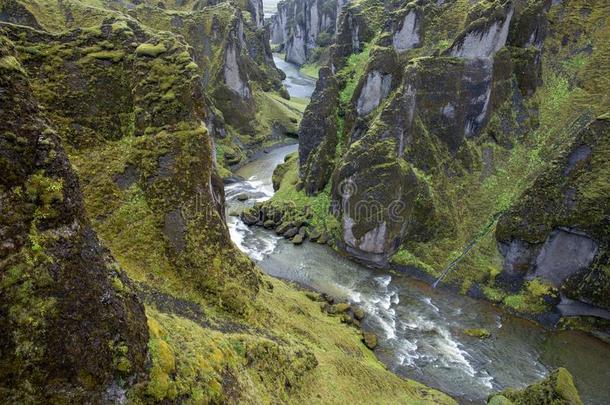
[[[0,35],[1,396],[114,402],[144,379],[144,308],[92,230],[76,175],[11,47]]]

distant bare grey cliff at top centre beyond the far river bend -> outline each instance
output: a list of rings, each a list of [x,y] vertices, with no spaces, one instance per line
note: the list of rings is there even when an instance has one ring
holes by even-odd
[[[284,0],[271,17],[271,43],[279,45],[286,61],[303,65],[316,48],[326,47],[337,32],[346,0]]]

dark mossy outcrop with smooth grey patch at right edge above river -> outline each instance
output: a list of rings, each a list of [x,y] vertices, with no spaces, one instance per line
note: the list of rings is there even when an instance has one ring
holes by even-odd
[[[610,308],[608,195],[595,184],[607,160],[610,122],[583,115],[578,135],[552,169],[541,174],[499,221],[502,245],[521,240],[528,249],[501,249],[504,272],[520,262],[523,277],[540,277],[566,298]],[[578,129],[579,128],[579,129]],[[500,277],[502,274],[500,275]]]

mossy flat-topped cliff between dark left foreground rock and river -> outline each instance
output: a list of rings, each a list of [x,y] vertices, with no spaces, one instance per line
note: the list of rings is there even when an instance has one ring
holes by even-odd
[[[22,45],[26,49],[35,44],[44,52],[72,49],[65,59],[23,55],[37,73],[40,100],[65,128],[64,141],[71,146],[96,230],[138,281],[165,291],[179,289],[180,283],[191,285],[219,303],[225,289],[235,292],[241,284],[256,290],[256,273],[251,263],[234,254],[223,222],[222,186],[212,165],[211,137],[201,124],[205,99],[199,76],[190,68],[192,59],[171,34],[148,38],[134,29],[126,39],[124,31],[106,28],[100,30],[105,32],[102,38],[93,33],[76,39],[73,34],[54,36],[57,42],[48,48],[47,42],[34,42],[43,34],[31,34],[30,42]],[[131,42],[137,36],[146,42]],[[82,61],[83,50],[93,43],[108,43],[131,54],[118,63]],[[166,50],[154,57],[139,53],[142,45]],[[62,69],[72,63],[82,67]],[[48,92],[49,87],[57,91]],[[75,114],[73,106],[87,110]],[[100,125],[107,122],[114,126]],[[131,226],[134,218],[141,228]],[[156,249],[151,253],[147,246]],[[150,272],[141,271],[142,262]],[[224,271],[229,268],[233,270]],[[163,286],[163,279],[174,282]]]

